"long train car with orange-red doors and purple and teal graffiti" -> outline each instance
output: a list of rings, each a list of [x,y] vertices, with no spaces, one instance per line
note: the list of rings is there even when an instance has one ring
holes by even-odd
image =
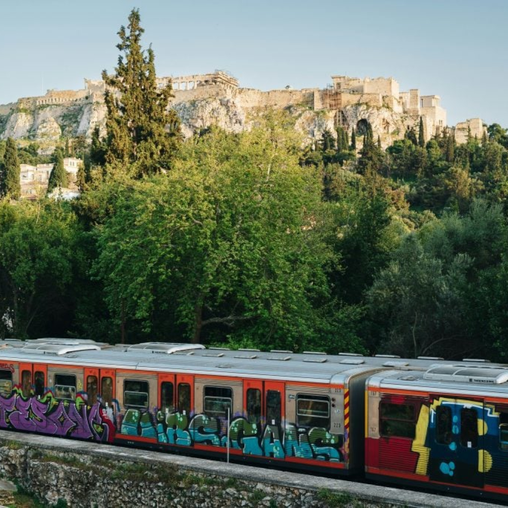
[[[387,361],[40,339],[0,349],[0,428],[349,475]]]

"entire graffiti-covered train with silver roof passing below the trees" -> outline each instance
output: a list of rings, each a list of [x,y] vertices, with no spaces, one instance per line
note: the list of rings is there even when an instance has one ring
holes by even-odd
[[[0,428],[508,494],[508,365],[479,359],[5,340]]]

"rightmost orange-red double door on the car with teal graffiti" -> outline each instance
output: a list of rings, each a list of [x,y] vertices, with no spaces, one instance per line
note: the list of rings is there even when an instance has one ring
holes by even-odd
[[[245,380],[243,406],[247,420],[243,429],[243,453],[283,458],[284,383]],[[258,446],[252,439],[255,436],[259,438]]]

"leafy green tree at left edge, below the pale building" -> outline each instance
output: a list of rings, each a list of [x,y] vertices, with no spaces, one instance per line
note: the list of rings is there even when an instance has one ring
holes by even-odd
[[[0,336],[67,332],[80,259],[79,228],[67,208],[54,201],[0,202]]]

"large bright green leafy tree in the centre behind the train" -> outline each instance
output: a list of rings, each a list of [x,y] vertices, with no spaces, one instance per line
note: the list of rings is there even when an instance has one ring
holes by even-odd
[[[212,130],[171,172],[121,189],[95,271],[118,324],[194,341],[298,347],[329,329],[321,177],[293,129]],[[171,325],[171,326],[169,326]],[[330,335],[333,333],[330,332]]]

